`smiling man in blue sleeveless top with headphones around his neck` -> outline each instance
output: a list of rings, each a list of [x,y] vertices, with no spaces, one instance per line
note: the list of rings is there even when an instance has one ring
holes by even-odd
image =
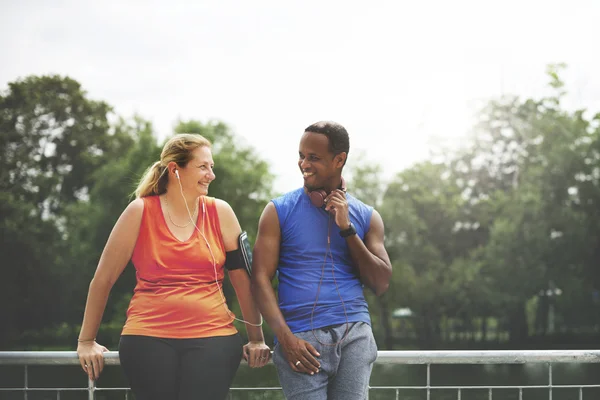
[[[304,187],[269,202],[259,222],[252,292],[276,335],[273,362],[287,399],[364,399],[377,357],[363,284],[382,294],[392,266],[381,216],[345,193],[349,149],[340,124],[306,128]]]

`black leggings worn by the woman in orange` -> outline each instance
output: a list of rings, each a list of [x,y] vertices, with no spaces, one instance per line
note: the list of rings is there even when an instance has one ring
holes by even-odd
[[[239,334],[201,339],[121,336],[119,358],[136,400],[225,399],[242,359]]]

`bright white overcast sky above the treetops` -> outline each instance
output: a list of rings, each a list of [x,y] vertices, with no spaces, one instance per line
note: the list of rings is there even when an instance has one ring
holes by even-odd
[[[569,107],[600,111],[600,1],[0,2],[0,88],[79,81],[123,116],[219,119],[299,187],[306,126],[334,120],[389,178],[464,135],[478,102],[547,93],[565,62]]]

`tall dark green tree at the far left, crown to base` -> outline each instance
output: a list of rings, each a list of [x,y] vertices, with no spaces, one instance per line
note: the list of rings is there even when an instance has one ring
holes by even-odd
[[[0,94],[2,347],[64,316],[64,210],[118,148],[109,112],[68,77],[30,76]]]

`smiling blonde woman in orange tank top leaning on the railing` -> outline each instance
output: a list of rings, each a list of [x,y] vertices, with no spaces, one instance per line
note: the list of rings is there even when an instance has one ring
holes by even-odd
[[[267,363],[249,276],[230,262],[240,259],[240,224],[229,204],[207,197],[213,168],[210,142],[181,134],[142,177],[90,283],[77,346],[90,379],[100,376],[107,351],[95,337],[108,294],[130,259],[137,285],[119,357],[136,399],[223,399],[242,356],[251,367]],[[244,346],[222,292],[224,265],[247,320]]]

